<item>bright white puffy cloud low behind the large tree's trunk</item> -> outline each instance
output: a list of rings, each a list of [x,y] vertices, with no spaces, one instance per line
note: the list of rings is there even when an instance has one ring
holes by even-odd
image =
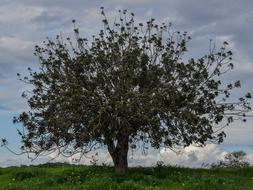
[[[95,152],[92,152],[88,155],[94,155]],[[128,161],[129,166],[155,166],[158,161],[163,161],[165,165],[179,165],[185,167],[201,167],[203,163],[213,163],[222,159],[226,151],[221,150],[217,145],[208,144],[205,147],[195,147],[189,146],[178,153],[170,149],[162,148],[160,151],[150,148],[149,153],[143,154],[140,150],[131,152],[129,150]],[[50,157],[54,157],[56,153],[53,153]],[[70,163],[73,162],[73,158],[78,158],[79,156],[74,156],[72,158],[65,158],[65,161]],[[98,155],[95,156],[97,159],[97,164],[107,164],[113,165],[112,159],[109,153],[102,149],[98,152]],[[64,158],[59,157],[56,160],[64,161]],[[84,158],[82,159],[82,164],[90,164],[91,159]]]

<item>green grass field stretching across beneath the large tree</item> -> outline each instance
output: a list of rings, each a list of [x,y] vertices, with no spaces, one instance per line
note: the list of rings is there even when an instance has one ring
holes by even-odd
[[[252,190],[253,168],[130,168],[48,164],[0,169],[0,190]]]

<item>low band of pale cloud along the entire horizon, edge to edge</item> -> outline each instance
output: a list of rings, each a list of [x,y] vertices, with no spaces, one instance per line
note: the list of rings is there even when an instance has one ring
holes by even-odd
[[[238,149],[241,150],[241,149]],[[215,163],[219,160],[222,160],[224,158],[224,155],[228,152],[231,152],[233,150],[227,151],[222,149],[220,146],[215,144],[208,144],[205,147],[195,147],[195,146],[189,146],[185,148],[184,150],[181,150],[180,153],[175,153],[174,151],[170,149],[161,149],[160,151],[156,150],[150,150],[150,153],[148,155],[143,155],[141,151],[135,151],[133,155],[131,154],[131,151],[128,155],[128,162],[129,166],[142,166],[142,167],[148,167],[148,166],[156,166],[158,161],[163,161],[165,165],[177,165],[177,166],[184,166],[184,167],[190,167],[190,168],[200,168],[203,167],[203,164],[211,164]],[[247,153],[247,159],[248,161],[253,164],[253,152],[252,151],[246,151]],[[37,160],[30,162],[29,159],[26,157],[26,155],[22,156],[16,156],[12,157],[12,159],[9,158],[1,158],[0,159],[0,167],[7,167],[11,165],[19,166],[21,164],[39,164],[39,163],[45,163],[52,158],[55,158],[57,155],[56,152],[46,156],[46,157],[39,157]],[[88,155],[87,158],[83,158],[80,163],[77,163],[74,161],[75,158],[79,158],[79,156],[73,156],[70,158],[66,158],[63,156],[59,156],[56,159],[53,160],[53,162],[68,162],[72,164],[85,164],[90,165],[92,159],[92,155],[95,155],[95,152],[92,152]],[[109,155],[109,153],[105,149],[101,149],[97,156],[94,156],[94,158],[97,160],[98,165],[106,164],[106,165],[113,165],[112,159]]]

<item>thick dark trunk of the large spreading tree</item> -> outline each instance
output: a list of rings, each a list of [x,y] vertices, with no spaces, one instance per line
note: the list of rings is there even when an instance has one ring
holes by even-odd
[[[119,138],[117,145],[115,147],[113,141],[108,143],[108,151],[112,157],[115,172],[119,174],[124,174],[128,168],[128,137],[122,136]]]

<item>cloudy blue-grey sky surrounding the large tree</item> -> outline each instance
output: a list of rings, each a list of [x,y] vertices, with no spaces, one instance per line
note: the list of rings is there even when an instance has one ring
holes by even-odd
[[[155,18],[158,22],[171,22],[175,30],[187,31],[192,36],[189,57],[208,53],[209,40],[219,45],[228,41],[234,53],[235,69],[225,80],[239,79],[242,87],[236,95],[253,94],[253,1],[252,0],[0,0],[0,138],[7,138],[12,149],[20,146],[17,128],[12,118],[25,109],[21,93],[27,86],[18,81],[16,73],[27,73],[27,67],[36,68],[34,46],[46,37],[57,34],[71,36],[72,19],[77,21],[81,35],[91,37],[102,26],[100,7],[109,18],[119,9],[134,12],[138,21]],[[176,155],[170,150],[150,150],[147,156],[140,152],[129,155],[130,165],[152,165],[159,160],[167,164],[201,166],[215,162],[226,152],[244,150],[253,163],[253,118],[248,122],[235,122],[225,129],[227,138],[221,145],[204,148],[190,146]],[[99,162],[111,163],[103,150]],[[40,158],[30,162],[25,155],[15,156],[0,148],[0,167],[46,162]],[[64,161],[63,158],[59,160]],[[89,160],[83,160],[89,163]]]

